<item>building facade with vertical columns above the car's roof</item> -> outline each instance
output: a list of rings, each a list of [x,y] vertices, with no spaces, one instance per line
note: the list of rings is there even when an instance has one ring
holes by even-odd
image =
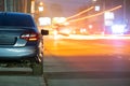
[[[0,11],[31,13],[31,1],[35,0],[0,0]]]

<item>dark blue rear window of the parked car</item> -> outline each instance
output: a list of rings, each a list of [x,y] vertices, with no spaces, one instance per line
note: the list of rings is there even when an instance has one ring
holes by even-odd
[[[0,14],[0,26],[35,27],[30,15],[24,14]]]

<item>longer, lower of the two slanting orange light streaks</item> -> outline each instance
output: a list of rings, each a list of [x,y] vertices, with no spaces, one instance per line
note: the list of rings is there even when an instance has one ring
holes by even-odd
[[[122,5],[118,5],[118,6],[116,6],[116,8],[110,9],[110,10],[106,10],[106,11],[103,11],[103,12],[100,12],[100,13],[96,13],[96,14],[93,14],[93,15],[90,15],[90,16],[82,17],[82,18],[73,19],[73,20],[69,20],[69,23],[70,23],[70,22],[83,20],[83,19],[91,18],[91,17],[95,17],[95,16],[99,16],[99,15],[104,14],[105,12],[112,12],[112,11],[118,10],[118,9],[120,9],[120,8],[122,8]]]

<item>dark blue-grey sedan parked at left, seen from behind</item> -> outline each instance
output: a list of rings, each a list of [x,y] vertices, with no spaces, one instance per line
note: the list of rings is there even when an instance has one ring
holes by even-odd
[[[34,74],[42,74],[42,35],[29,14],[0,13],[0,63],[29,63]]]

